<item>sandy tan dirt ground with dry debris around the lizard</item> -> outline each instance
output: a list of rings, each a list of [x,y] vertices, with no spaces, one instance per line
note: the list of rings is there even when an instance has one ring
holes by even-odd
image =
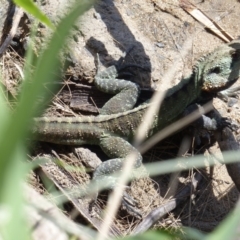
[[[234,39],[238,38],[240,29],[240,3],[238,1],[192,0],[191,3],[217,22]],[[52,20],[56,21],[58,18],[56,15],[59,12],[61,13],[61,11],[56,13],[56,9],[58,9],[56,6],[61,8],[64,4],[68,5],[69,3],[62,1],[60,4],[57,0],[46,1],[45,5],[41,7]],[[22,21],[18,35],[15,37],[16,41],[20,43],[19,39],[26,39],[28,34],[26,32],[27,28],[24,27],[25,22]],[[45,36],[45,31],[44,27],[39,29],[40,38]],[[186,52],[187,41],[190,47]],[[134,81],[139,83],[142,90],[164,91],[175,85],[184,76],[187,76],[199,57],[223,43],[219,37],[205,29],[203,25],[184,11],[177,0],[98,1],[76,23],[73,36],[69,39],[68,48],[70,49],[69,59],[71,65],[67,69],[64,80],[71,81],[72,85],[88,84],[88,86],[91,86],[96,73],[97,53],[100,56],[102,68],[104,68],[116,63],[124,52],[134,46],[129,56],[127,56],[126,62],[136,63],[150,70],[137,72]],[[23,46],[21,44],[17,48],[17,53],[9,49],[1,59],[1,63],[4,65],[3,76],[5,76],[3,84],[8,94],[13,97],[16,96],[16,86],[19,85],[19,67],[22,68],[23,66],[21,56],[24,50],[20,51]],[[37,49],[37,51],[39,50]],[[172,79],[165,77],[169,71],[175,72]],[[72,90],[71,84],[67,84],[63,92],[59,92],[55,96],[53,104],[45,112],[46,115],[74,116],[79,114],[81,110],[83,110],[84,114],[96,113],[92,102],[86,103],[84,100],[84,103],[80,102],[80,107],[75,106],[76,103],[73,102],[73,99],[76,97],[74,94],[77,96],[85,94],[85,90]],[[88,89],[86,94],[89,94]],[[72,96],[70,100],[68,99],[69,95]],[[107,97],[100,95],[100,97],[96,97],[95,102],[97,105],[101,105],[105,98]],[[63,102],[64,104],[62,104]],[[85,104],[85,107],[81,106],[81,104]],[[231,117],[235,122],[239,121],[239,102],[230,107],[226,103],[216,100],[215,106],[222,115]],[[86,109],[89,111],[86,111]],[[180,148],[181,136],[169,138],[158,144],[144,155],[144,161],[151,162],[176,157]],[[49,154],[51,152],[49,148],[56,150],[57,155],[70,165],[81,167],[84,165],[84,163],[77,162],[78,159],[70,148],[59,148],[54,145],[40,145],[35,151],[35,156]],[[96,151],[101,160],[106,158],[98,148],[91,148],[91,150]],[[212,151],[219,151],[218,147],[215,146]],[[59,170],[58,167],[51,165],[51,163],[44,166],[43,169],[50,175],[55,175],[55,178],[52,179],[55,184],[57,181],[56,175],[58,175],[61,184],[57,186],[60,189],[69,187],[72,184],[69,182],[69,176],[62,173],[61,169]],[[59,172],[61,172],[61,176]],[[204,180],[196,192],[195,199],[187,199],[181,206],[160,220],[154,228],[174,228],[184,225],[209,232],[233,209],[239,193],[229,177],[225,165],[218,162],[211,169],[208,167],[202,169],[201,173]],[[90,178],[89,174],[79,176],[79,173],[71,173],[71,175],[74,175],[74,185],[76,183],[87,183]],[[189,180],[190,176],[191,171],[182,173],[179,177],[180,184],[177,192]],[[169,195],[167,196],[167,193],[169,191],[170,177],[168,175],[154,179],[145,177],[132,183],[132,195],[137,198],[143,216],[146,216],[152,209],[160,206],[163,202],[168,201]],[[36,179],[39,179],[37,173],[35,173]],[[39,182],[39,180],[32,181],[32,184],[39,191],[43,191],[43,187]],[[99,200],[100,209],[104,207],[105,201],[106,197],[103,194]],[[82,206],[84,206],[84,202],[82,202]],[[81,206],[79,208],[81,209]],[[84,216],[86,217],[86,215]],[[94,222],[95,220],[89,220],[90,218],[90,216],[87,217],[88,221],[97,224]],[[99,215],[97,218],[101,218],[101,216]],[[140,220],[133,219],[127,216],[126,212],[120,211],[115,225],[120,232],[129,233],[139,222]]]

